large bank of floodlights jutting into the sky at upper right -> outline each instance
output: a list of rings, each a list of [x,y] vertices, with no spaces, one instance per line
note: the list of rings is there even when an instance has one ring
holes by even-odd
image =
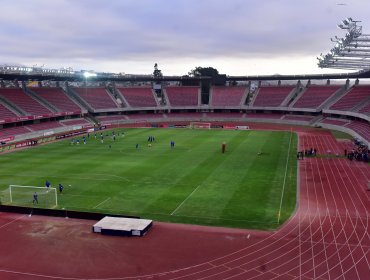
[[[344,38],[331,38],[336,43],[327,55],[320,55],[320,68],[370,70],[370,35],[362,34],[361,21],[346,18],[338,28],[347,30]]]

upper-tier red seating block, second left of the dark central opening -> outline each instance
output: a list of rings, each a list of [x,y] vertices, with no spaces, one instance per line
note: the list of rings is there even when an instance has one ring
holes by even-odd
[[[149,87],[117,87],[131,107],[157,107],[154,93]]]

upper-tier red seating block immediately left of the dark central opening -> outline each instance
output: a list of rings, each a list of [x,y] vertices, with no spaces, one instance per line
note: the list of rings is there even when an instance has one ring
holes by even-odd
[[[198,106],[199,87],[166,87],[164,92],[172,107]]]

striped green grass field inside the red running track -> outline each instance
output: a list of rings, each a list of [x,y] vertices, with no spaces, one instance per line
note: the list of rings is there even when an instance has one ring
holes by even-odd
[[[105,131],[104,144],[98,133],[86,145],[65,140],[0,155],[2,202],[10,184],[44,186],[49,180],[52,187],[65,187],[58,208],[160,221],[273,229],[295,209],[294,133],[118,131],[125,137],[113,141],[111,131]],[[149,135],[155,137],[152,147]],[[175,141],[172,149],[170,141]],[[222,142],[227,143],[225,154]],[[32,206],[32,195],[25,204]]]

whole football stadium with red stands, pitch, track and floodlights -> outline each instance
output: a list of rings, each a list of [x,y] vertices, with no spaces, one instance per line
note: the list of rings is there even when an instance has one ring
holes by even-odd
[[[370,35],[339,27],[333,74],[0,66],[0,279],[368,279]]]

